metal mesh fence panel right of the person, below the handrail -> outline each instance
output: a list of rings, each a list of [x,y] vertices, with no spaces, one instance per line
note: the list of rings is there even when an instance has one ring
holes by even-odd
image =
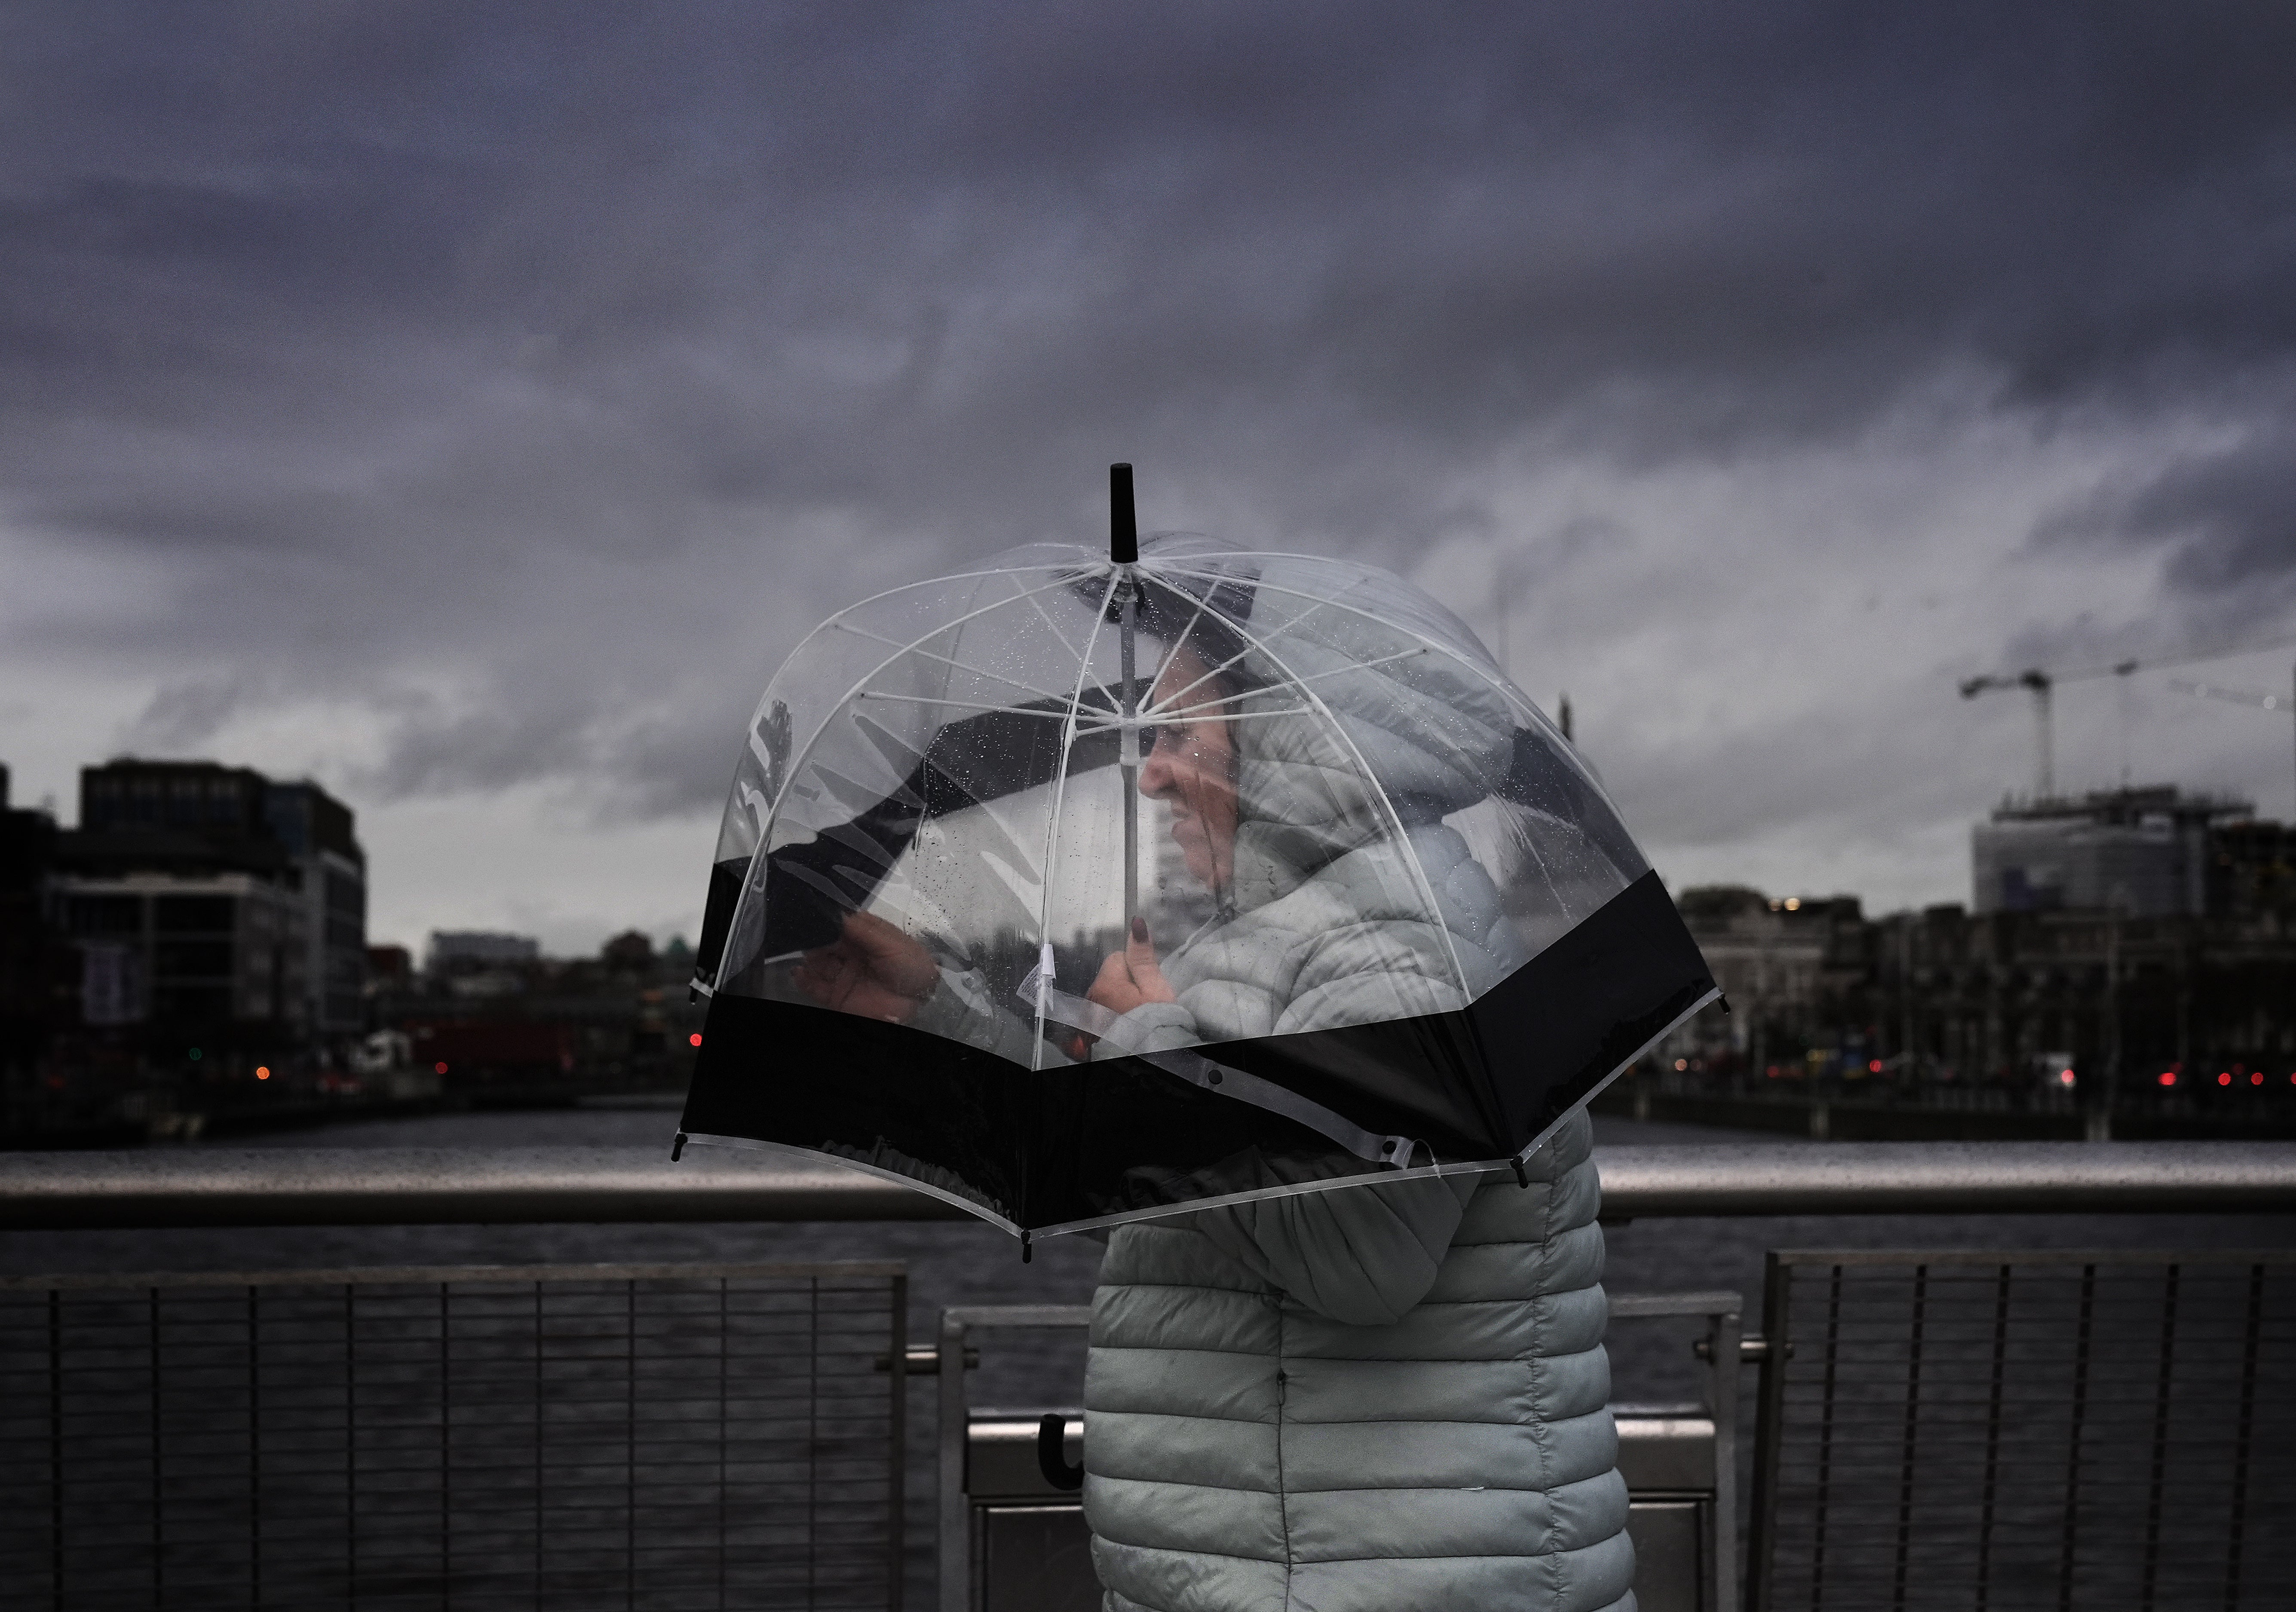
[[[1766,1309],[1754,1607],[2296,1605],[2296,1256],[1793,1251]]]

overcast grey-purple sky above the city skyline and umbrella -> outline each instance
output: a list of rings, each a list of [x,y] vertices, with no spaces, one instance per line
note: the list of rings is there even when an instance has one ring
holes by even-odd
[[[797,636],[1132,459],[1504,613],[1676,889],[1965,900],[2032,721],[1958,677],[2296,636],[2291,67],[2285,5],[9,7],[0,760],[308,772],[374,939],[691,935]],[[2287,817],[2291,726],[2078,682],[2057,772]]]

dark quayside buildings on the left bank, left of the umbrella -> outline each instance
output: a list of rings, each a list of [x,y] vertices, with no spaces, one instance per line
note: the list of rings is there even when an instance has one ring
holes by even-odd
[[[7,808],[0,1141],[246,1130],[347,1109],[684,1084],[691,953],[533,937],[367,948],[367,859],[310,781],[211,760],[80,774],[78,827]],[[691,1020],[691,1022],[689,1022]]]

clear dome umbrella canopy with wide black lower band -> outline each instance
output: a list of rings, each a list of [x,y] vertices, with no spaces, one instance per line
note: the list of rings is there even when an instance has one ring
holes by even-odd
[[[1568,742],[1387,572],[1130,533],[815,629],[712,870],[684,1139],[1022,1235],[1520,1164],[1717,997]]]

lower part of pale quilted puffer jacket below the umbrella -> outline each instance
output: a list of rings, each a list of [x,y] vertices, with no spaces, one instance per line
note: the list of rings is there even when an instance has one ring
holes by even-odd
[[[1111,1235],[1084,1387],[1109,1612],[1632,1607],[1584,1114],[1529,1176]]]

